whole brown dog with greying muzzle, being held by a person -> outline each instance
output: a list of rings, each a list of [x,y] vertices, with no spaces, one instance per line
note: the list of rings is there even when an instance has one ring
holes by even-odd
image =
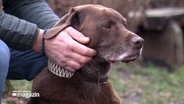
[[[119,96],[107,82],[111,63],[134,61],[144,42],[127,30],[125,24],[126,19],[111,8],[100,5],[72,8],[55,26],[62,29],[56,29],[53,34],[72,26],[90,37],[87,46],[98,54],[72,77],[69,73],[71,78],[61,77],[57,72],[61,68],[50,62],[51,67],[41,71],[33,83],[32,91],[40,93],[40,97],[31,98],[28,104],[121,104]]]

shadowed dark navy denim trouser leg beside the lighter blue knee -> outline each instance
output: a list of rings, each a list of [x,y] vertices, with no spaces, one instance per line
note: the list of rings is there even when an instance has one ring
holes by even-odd
[[[47,66],[47,57],[34,51],[10,49],[11,58],[7,79],[32,80]]]

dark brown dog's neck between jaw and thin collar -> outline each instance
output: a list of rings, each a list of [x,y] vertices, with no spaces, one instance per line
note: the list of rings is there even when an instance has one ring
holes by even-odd
[[[93,82],[98,84],[103,84],[107,83],[107,76],[110,68],[110,63],[99,56],[95,56],[76,73],[79,74],[79,77],[82,76],[85,77],[85,79],[93,80]]]

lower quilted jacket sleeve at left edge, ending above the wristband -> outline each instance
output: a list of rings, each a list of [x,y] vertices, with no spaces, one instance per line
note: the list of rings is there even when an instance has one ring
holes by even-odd
[[[38,32],[35,24],[0,12],[0,39],[9,47],[17,50],[32,49]]]

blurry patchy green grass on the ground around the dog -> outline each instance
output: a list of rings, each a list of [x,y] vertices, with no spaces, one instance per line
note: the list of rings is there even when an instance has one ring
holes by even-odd
[[[117,63],[109,79],[123,104],[184,104],[184,66],[169,73],[153,65]],[[28,81],[10,84],[11,90],[31,90]]]

